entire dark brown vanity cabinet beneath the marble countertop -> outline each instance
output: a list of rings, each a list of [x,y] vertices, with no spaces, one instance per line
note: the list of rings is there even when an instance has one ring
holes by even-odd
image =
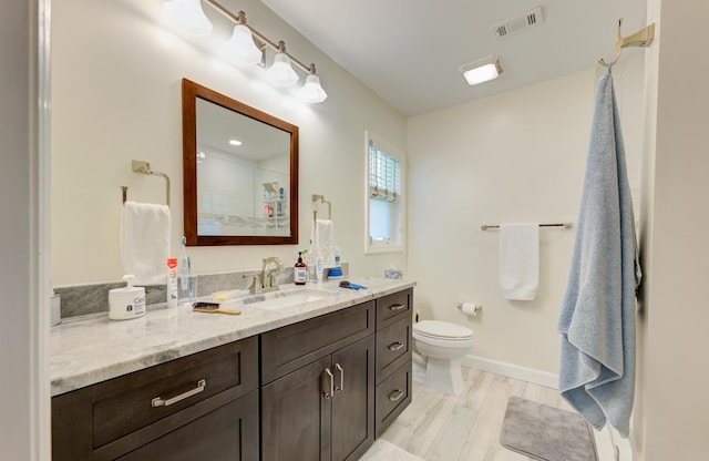
[[[56,396],[52,459],[356,461],[411,402],[412,295]]]

